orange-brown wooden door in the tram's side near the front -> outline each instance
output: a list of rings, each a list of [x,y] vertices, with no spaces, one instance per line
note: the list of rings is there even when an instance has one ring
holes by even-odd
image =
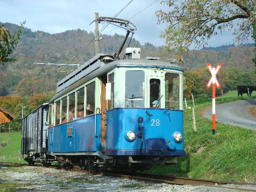
[[[101,87],[101,123],[100,123],[100,141],[101,141],[101,150],[106,148],[106,109],[107,109],[107,100],[106,98],[106,83],[107,83],[107,74],[103,75],[102,78],[102,87]],[[105,133],[105,135],[104,135]]]

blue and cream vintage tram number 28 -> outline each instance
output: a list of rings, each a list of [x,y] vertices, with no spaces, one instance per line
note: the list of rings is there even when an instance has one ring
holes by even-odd
[[[127,48],[126,58],[97,54],[58,82],[48,156],[82,169],[144,170],[185,155],[184,69],[140,59],[138,48]]]

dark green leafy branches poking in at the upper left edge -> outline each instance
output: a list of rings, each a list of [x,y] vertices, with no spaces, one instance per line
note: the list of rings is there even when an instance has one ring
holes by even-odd
[[[15,58],[9,58],[9,56],[18,44],[25,22],[26,21],[22,22],[17,32],[12,35],[9,30],[4,27],[4,24],[0,26],[0,65],[4,65],[6,62],[16,61]]]

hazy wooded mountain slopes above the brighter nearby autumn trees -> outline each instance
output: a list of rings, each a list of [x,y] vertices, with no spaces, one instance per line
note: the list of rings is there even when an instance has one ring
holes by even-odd
[[[2,24],[0,22],[0,24]],[[18,25],[5,23],[11,33]],[[101,53],[117,52],[124,40],[124,36],[114,34],[100,34]],[[126,42],[124,48],[128,46]],[[141,48],[141,58],[155,56],[161,59],[175,58],[174,53],[164,51],[164,46],[154,46],[150,42],[141,45],[134,38],[131,46]],[[123,50],[124,52],[124,50]],[[123,52],[121,55],[123,55]],[[18,46],[12,57],[17,61],[0,67],[0,96],[19,95],[31,96],[36,93],[55,90],[56,83],[75,70],[75,66],[44,66],[34,62],[84,64],[95,55],[93,32],[76,29],[57,34],[43,31],[32,32],[24,28]],[[179,64],[187,70],[205,67],[207,62],[221,63],[222,68],[236,67],[240,71],[254,69],[251,58],[254,57],[252,45],[227,45],[219,48],[204,50],[190,50]],[[66,71],[67,72],[58,72]]]

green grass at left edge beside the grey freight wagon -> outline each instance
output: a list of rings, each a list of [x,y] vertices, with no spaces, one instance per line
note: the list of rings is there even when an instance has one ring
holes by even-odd
[[[8,133],[1,133],[1,142],[8,142],[8,138]],[[2,157],[5,156],[2,161],[25,163],[26,161],[23,158],[19,160],[18,156],[18,152],[21,151],[21,132],[10,133],[10,142],[8,146],[2,147],[1,154]]]

